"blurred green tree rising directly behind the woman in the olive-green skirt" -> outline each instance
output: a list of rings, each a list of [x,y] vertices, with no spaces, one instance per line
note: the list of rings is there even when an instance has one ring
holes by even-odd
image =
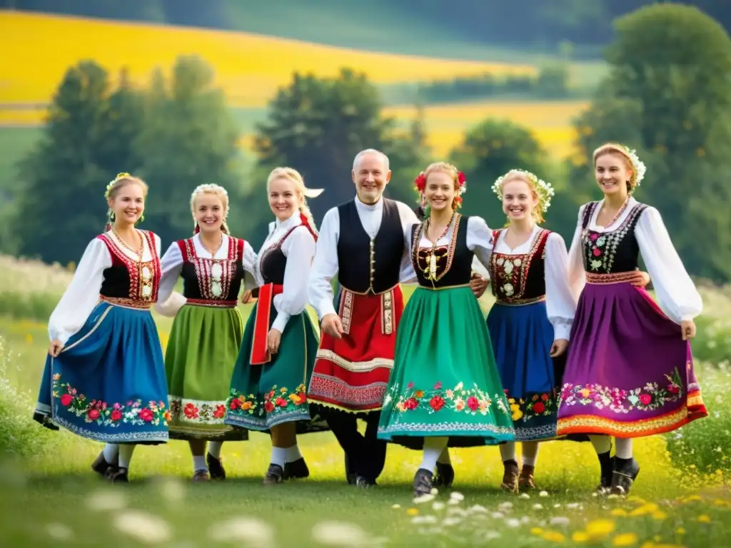
[[[178,58],[170,85],[156,72],[145,99],[145,124],[135,140],[139,174],[150,185],[143,226],[163,242],[187,237],[193,189],[216,183],[230,194],[231,229],[238,233],[238,138],[225,96],[213,86],[213,71],[203,61]]]

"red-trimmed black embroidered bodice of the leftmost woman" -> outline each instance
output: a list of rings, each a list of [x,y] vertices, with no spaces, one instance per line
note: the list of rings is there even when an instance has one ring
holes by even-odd
[[[160,261],[154,237],[146,230],[139,231],[143,246],[150,250],[148,259],[135,260],[121,242],[110,233],[99,235],[112,259],[112,265],[103,270],[104,279],[99,294],[103,297],[128,299],[133,305],[152,305],[157,301],[160,282]]]

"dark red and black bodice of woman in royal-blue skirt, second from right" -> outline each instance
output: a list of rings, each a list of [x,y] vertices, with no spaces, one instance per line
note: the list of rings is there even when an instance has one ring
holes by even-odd
[[[501,232],[503,231],[493,231],[493,241],[499,241]],[[527,253],[507,254],[493,251],[490,258],[490,278],[497,302],[512,303],[545,296],[546,243],[550,233],[550,230],[538,229]]]

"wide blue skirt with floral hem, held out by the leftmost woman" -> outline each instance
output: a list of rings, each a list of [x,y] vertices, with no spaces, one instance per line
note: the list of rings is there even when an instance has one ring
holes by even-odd
[[[99,302],[58,357],[46,357],[34,419],[95,441],[167,441],[162,347],[146,309]]]

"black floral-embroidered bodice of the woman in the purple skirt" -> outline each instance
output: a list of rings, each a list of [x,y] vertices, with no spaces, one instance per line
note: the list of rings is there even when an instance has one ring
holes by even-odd
[[[611,274],[631,272],[637,268],[640,246],[635,237],[635,227],[647,206],[639,202],[632,205],[618,227],[606,232],[589,228],[594,210],[599,202],[590,202],[584,209],[581,224],[584,269],[588,273]]]

